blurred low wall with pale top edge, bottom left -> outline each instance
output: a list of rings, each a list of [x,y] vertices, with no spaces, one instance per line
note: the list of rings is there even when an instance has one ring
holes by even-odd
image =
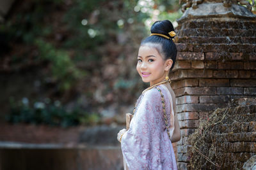
[[[3,146],[3,143],[0,143],[0,169],[124,169],[120,145],[77,147],[30,145],[16,143]]]

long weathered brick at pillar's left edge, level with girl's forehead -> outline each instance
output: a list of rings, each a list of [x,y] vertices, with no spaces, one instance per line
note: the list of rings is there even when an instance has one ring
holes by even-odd
[[[204,60],[202,52],[178,52],[177,60]]]

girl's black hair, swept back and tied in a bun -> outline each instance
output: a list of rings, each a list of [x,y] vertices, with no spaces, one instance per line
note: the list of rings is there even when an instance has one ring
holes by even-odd
[[[148,36],[147,38],[141,41],[141,46],[143,45],[150,45],[156,48],[157,52],[163,55],[164,60],[172,59],[173,64],[170,68],[170,71],[173,69],[176,55],[177,55],[177,48],[175,43],[173,42],[173,37],[168,34],[168,32],[174,31],[172,22],[170,20],[159,20],[154,22],[150,29],[151,33],[157,34],[164,34],[165,36],[170,37],[170,39],[164,38],[163,36]]]

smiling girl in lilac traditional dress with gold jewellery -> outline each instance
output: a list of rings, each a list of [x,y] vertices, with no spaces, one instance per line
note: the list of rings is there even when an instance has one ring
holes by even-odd
[[[130,170],[177,169],[172,143],[180,140],[180,127],[168,78],[177,55],[175,32],[169,20],[155,22],[150,31],[141,42],[136,67],[150,87],[136,103],[130,128],[119,131],[117,139]]]

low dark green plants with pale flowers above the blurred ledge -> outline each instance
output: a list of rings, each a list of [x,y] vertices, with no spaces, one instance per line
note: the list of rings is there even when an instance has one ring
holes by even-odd
[[[29,104],[28,99],[23,98],[18,103],[10,99],[11,112],[6,115],[6,120],[13,124],[47,124],[68,127],[73,125],[93,125],[100,121],[95,113],[86,113],[81,107],[76,106],[71,111],[62,106],[60,101],[42,102],[35,101]]]

